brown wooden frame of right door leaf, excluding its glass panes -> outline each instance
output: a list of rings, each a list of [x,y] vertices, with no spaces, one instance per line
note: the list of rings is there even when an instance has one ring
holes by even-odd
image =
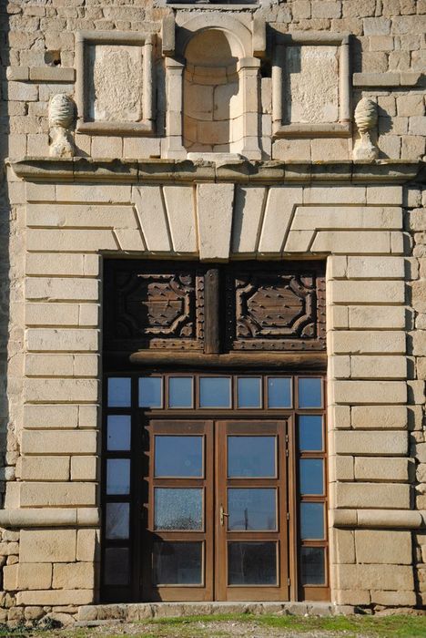
[[[276,478],[228,478],[227,438],[239,436],[276,436]],[[215,597],[218,601],[287,601],[289,600],[289,542],[288,542],[288,475],[286,419],[218,420],[216,439],[216,561]],[[242,487],[277,489],[276,531],[228,531],[228,518],[220,520],[220,507],[228,512],[228,488]],[[277,542],[278,582],[273,585],[228,585],[228,542],[230,540]]]

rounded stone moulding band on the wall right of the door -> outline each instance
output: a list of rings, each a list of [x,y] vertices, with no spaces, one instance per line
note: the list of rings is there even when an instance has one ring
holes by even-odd
[[[425,509],[330,509],[335,528],[416,530],[426,527]]]

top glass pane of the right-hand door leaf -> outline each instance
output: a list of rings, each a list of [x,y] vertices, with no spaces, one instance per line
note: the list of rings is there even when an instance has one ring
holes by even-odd
[[[228,437],[229,478],[273,478],[276,457],[276,437]]]

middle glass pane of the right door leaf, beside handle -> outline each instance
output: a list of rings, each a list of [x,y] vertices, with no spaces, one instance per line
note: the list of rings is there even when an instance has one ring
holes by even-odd
[[[275,489],[228,489],[228,530],[276,530]]]

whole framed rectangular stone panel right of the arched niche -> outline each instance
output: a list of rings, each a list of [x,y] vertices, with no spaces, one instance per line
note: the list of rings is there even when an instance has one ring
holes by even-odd
[[[275,137],[350,136],[349,36],[277,34],[276,43]]]

